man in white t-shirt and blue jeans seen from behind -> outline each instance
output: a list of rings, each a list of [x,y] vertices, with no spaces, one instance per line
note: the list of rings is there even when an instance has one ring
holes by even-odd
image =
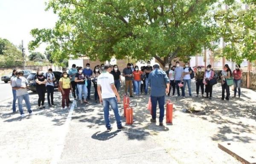
[[[120,101],[120,97],[115,87],[114,77],[112,74],[110,74],[110,72],[111,66],[107,64],[104,66],[104,71],[99,75],[97,79],[99,101],[103,103],[105,124],[107,130],[111,131],[112,127],[109,120],[109,106],[111,106],[115,114],[117,129],[127,129],[127,127],[123,126],[121,122],[117,105],[117,102]]]

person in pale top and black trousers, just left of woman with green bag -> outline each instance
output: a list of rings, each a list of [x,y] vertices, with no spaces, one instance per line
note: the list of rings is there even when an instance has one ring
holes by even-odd
[[[212,80],[214,77],[214,71],[211,68],[212,66],[209,64],[204,73],[204,80],[203,80],[203,83],[205,84],[205,92],[206,92],[205,98],[209,98],[209,99],[212,99],[212,85],[210,85],[209,81]]]

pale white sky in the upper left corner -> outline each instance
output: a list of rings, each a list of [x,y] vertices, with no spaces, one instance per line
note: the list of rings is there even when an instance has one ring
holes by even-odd
[[[26,55],[29,55],[28,43],[33,40],[30,31],[34,28],[53,28],[58,16],[45,11],[46,0],[0,0],[0,37],[15,44],[23,40]],[[46,44],[35,51],[44,54]]]

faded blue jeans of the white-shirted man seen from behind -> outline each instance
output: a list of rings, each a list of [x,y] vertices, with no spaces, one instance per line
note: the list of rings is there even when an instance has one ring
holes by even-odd
[[[106,127],[107,128],[111,127],[110,120],[109,120],[109,106],[111,106],[111,108],[114,111],[117,128],[122,127],[122,122],[121,122],[116,98],[115,97],[114,98],[103,98],[102,101],[103,101],[104,119],[105,119]]]

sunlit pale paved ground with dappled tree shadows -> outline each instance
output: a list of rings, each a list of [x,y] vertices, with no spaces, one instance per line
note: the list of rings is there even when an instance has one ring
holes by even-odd
[[[194,83],[192,83],[194,86]],[[134,107],[134,124],[119,132],[113,124],[105,131],[101,104],[93,101],[72,111],[36,109],[37,94],[30,93],[35,115],[12,114],[11,99],[0,103],[0,161],[4,164],[239,164],[218,149],[218,142],[256,144],[256,92],[242,89],[241,99],[221,101],[221,86],[214,86],[212,101],[173,97],[173,125],[150,124],[148,97]],[[193,93],[195,95],[195,93]],[[231,95],[233,92],[231,91]],[[166,97],[168,99],[169,97]],[[47,101],[46,101],[47,104]],[[182,112],[194,106],[205,115]],[[122,104],[120,104],[122,112]],[[124,118],[122,117],[122,120]],[[111,111],[111,122],[115,123]],[[252,150],[254,151],[254,150]],[[1,162],[2,163],[2,162]]]

